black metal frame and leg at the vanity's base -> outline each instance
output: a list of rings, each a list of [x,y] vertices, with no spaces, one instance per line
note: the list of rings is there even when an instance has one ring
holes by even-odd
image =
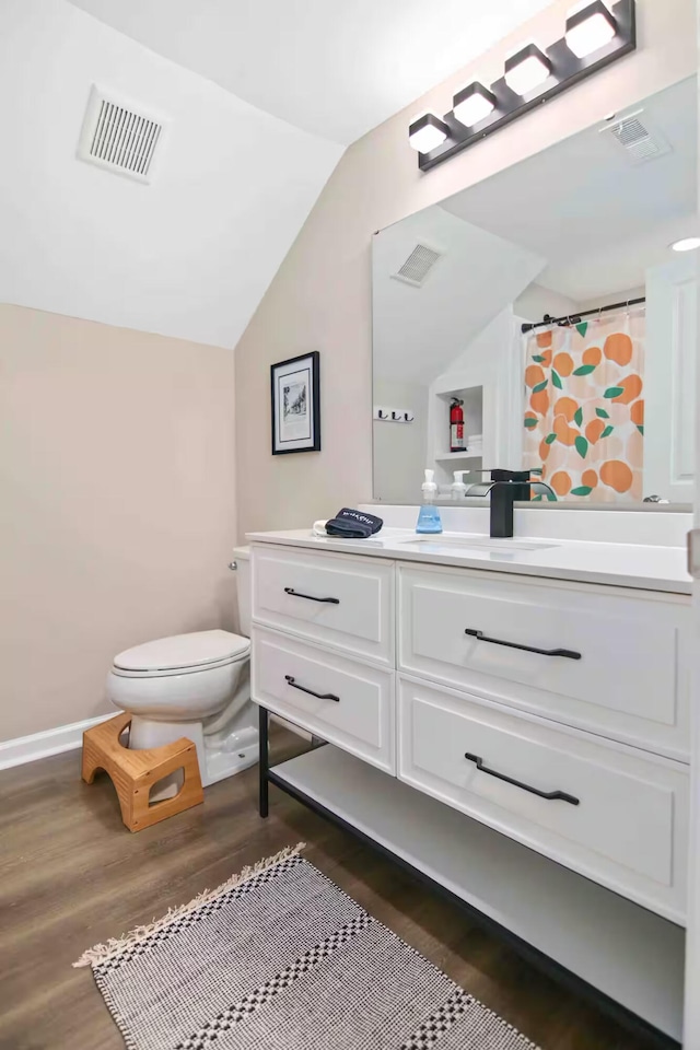
[[[427,887],[431,892],[436,894],[438,896],[450,901],[456,908],[459,908],[462,911],[466,912],[475,923],[482,926],[485,930],[488,930],[499,940],[505,942],[514,952],[516,952],[521,958],[525,959],[530,966],[534,966],[540,972],[547,975],[557,983],[561,984],[563,988],[573,992],[574,994],[581,996],[582,999],[587,1000],[593,1003],[598,1010],[607,1014],[614,1020],[616,1020],[621,1027],[626,1028],[629,1032],[640,1038],[646,1040],[650,1047],[657,1048],[657,1050],[682,1050],[679,1042],[676,1042],[675,1039],[672,1039],[669,1036],[666,1036],[664,1032],[660,1031],[657,1028],[654,1028],[642,1017],[639,1017],[632,1011],[627,1010],[627,1007],[620,1005],[616,1000],[610,999],[609,995],[606,995],[599,989],[594,988],[593,984],[590,984],[583,978],[579,977],[572,970],[567,969],[567,967],[561,966],[555,959],[550,958],[548,955],[545,955],[544,952],[540,952],[538,948],[534,947],[532,944],[528,944],[527,941],[523,941],[522,937],[516,936],[506,926],[501,925],[501,923],[495,922],[495,920],[485,915],[483,912],[479,911],[472,905],[467,903],[463,900],[462,897],[458,897],[456,894],[453,894],[452,890],[447,889],[445,886],[442,886],[435,879],[431,878],[429,875],[425,875],[419,868],[415,867],[404,858],[398,856],[387,847],[383,845],[381,842],[377,842],[370,835],[365,835],[364,831],[361,831],[354,825],[350,824],[348,820],[345,820],[342,817],[338,816],[337,813],[334,813],[332,809],[328,809],[327,806],[322,805],[315,798],[312,798],[305,792],[300,791],[298,788],[292,786],[288,783],[282,777],[279,777],[275,772],[275,766],[270,766],[269,761],[269,721],[270,712],[267,708],[258,705],[258,718],[259,718],[259,730],[260,730],[260,749],[259,749],[259,814],[260,817],[265,818],[269,813],[269,788],[270,784],[275,784],[281,791],[285,792],[288,795],[291,795],[292,798],[295,798],[296,802],[301,802],[303,805],[307,806],[310,809],[313,809],[314,813],[317,813],[319,816],[325,817],[327,820],[330,820],[332,824],[338,825],[338,827],[343,828],[346,831],[350,831],[351,835],[354,835],[355,838],[360,839],[366,845],[372,847],[377,853],[381,853],[383,856],[388,858],[393,861],[398,867],[407,872],[416,882],[421,883]],[[313,743],[311,749],[314,747],[325,747],[326,742],[320,740],[318,743]],[[281,763],[280,763],[281,765]],[[603,1048],[602,1048],[603,1050]]]

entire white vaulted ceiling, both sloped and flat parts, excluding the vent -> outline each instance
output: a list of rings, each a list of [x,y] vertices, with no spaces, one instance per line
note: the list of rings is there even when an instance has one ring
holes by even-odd
[[[234,347],[345,145],[548,0],[1,0],[0,302]],[[164,118],[77,159],[91,85]]]

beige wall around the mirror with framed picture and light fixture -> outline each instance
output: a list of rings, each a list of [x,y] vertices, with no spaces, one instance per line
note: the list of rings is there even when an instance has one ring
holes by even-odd
[[[697,69],[693,0],[638,0],[639,49],[428,175],[408,124],[441,115],[474,77],[502,71],[508,49],[563,32],[558,0],[459,75],[352,145],[326,185],[236,350],[238,532],[328,517],[372,494],[372,233],[666,88]],[[269,365],[320,351],[323,451],[270,455]],[[420,474],[422,464],[416,464]]]

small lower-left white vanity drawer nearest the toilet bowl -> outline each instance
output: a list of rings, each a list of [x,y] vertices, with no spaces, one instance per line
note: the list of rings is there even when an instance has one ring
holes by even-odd
[[[253,699],[388,773],[394,675],[271,631],[253,629]]]

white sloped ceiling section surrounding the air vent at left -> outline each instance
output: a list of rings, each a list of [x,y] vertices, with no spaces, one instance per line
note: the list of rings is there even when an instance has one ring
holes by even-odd
[[[151,185],[77,159],[93,83],[167,119]],[[342,153],[66,0],[0,4],[0,302],[215,346]]]

